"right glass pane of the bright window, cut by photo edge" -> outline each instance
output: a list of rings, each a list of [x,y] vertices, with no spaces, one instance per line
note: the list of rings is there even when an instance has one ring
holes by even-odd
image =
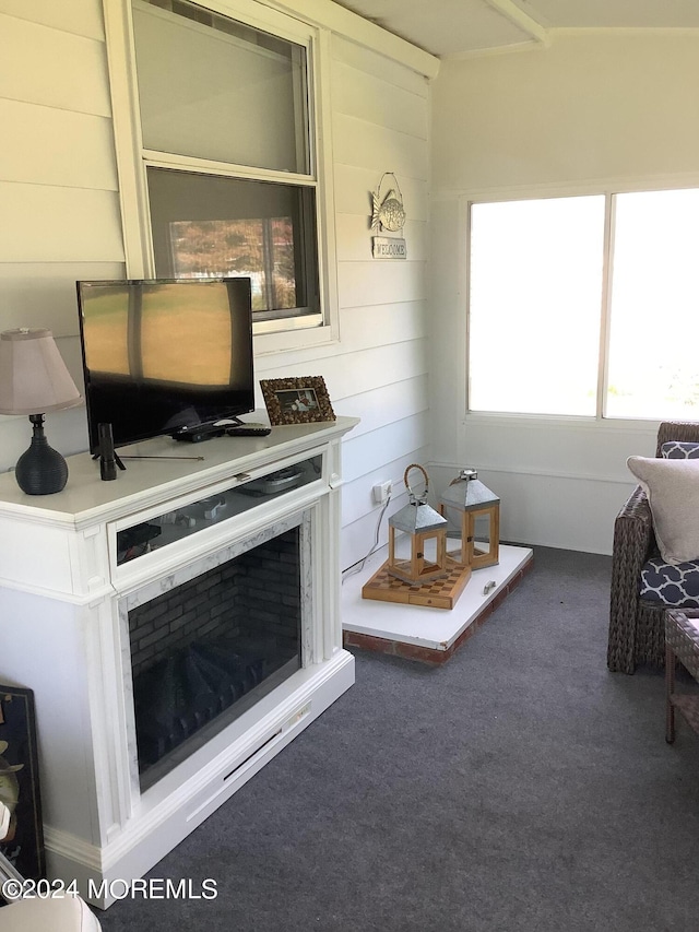
[[[699,190],[617,194],[606,414],[699,418]]]

